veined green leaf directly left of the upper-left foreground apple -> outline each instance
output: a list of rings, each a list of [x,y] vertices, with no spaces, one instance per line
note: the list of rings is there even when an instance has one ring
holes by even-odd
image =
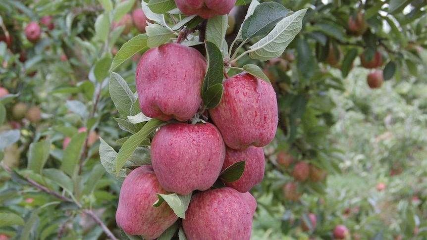
[[[115,72],[109,78],[109,94],[117,111],[123,116],[130,115],[130,107],[136,100],[126,81]]]

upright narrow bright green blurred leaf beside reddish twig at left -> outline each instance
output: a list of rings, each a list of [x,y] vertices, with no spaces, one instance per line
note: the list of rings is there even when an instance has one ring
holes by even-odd
[[[82,132],[74,135],[71,138],[70,143],[65,147],[64,153],[62,154],[62,171],[68,176],[73,177],[77,173],[83,144],[86,141],[87,133]]]

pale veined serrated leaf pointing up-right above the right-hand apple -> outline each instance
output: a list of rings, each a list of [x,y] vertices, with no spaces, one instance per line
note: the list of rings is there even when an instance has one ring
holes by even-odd
[[[249,47],[252,49],[249,57],[259,60],[279,57],[301,31],[302,20],[306,12],[307,8],[304,8],[279,21],[266,37]]]

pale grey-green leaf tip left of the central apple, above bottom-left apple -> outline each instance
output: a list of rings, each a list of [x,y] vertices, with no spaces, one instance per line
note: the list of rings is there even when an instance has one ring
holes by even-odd
[[[116,168],[115,168],[115,159],[117,157],[117,152],[114,151],[114,149],[108,145],[104,139],[100,138],[100,158],[101,158],[101,164],[106,169],[107,173],[115,177],[117,180],[122,181],[126,177],[126,170],[120,169],[118,174],[116,174]]]

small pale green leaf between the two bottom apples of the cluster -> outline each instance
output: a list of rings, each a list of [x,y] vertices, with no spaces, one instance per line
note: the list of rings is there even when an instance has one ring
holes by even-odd
[[[185,218],[185,211],[187,211],[188,204],[190,204],[191,194],[188,195],[180,195],[176,193],[172,194],[160,194],[157,193],[159,200],[157,200],[153,206],[160,206],[161,202],[165,201],[170,208],[172,208],[173,212],[176,216],[180,218]],[[160,204],[158,204],[160,202]]]

